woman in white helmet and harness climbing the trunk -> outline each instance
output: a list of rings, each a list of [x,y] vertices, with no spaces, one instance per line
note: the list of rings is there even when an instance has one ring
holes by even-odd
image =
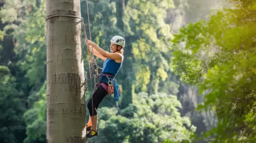
[[[96,84],[97,88],[92,94],[92,97],[90,98],[87,104],[88,110],[90,112],[90,116],[89,116],[88,123],[86,124],[86,131],[89,131],[88,133],[86,133],[86,137],[93,137],[98,135],[97,109],[98,109],[98,106],[100,105],[100,102],[102,102],[103,98],[107,94],[114,93],[114,99],[116,101],[119,100],[119,96],[120,96],[119,85],[116,83],[114,76],[116,76],[116,74],[118,73],[124,60],[123,48],[125,45],[125,40],[121,36],[114,36],[110,40],[110,42],[111,42],[111,45],[110,45],[111,53],[108,53],[103,49],[101,49],[100,47],[98,47],[98,45],[96,45],[94,42],[90,40],[86,41],[87,47],[89,45],[92,45],[94,55],[104,60],[102,72],[101,74],[99,74],[100,80],[98,82],[98,86]]]

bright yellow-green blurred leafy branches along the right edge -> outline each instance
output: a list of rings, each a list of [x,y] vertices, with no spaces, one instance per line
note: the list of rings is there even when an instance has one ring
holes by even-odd
[[[210,90],[204,104],[220,122],[206,138],[220,141],[253,141],[255,135],[255,15],[256,3],[212,13],[209,22],[197,22],[174,35],[172,70],[200,94]],[[231,139],[231,140],[230,140]]]

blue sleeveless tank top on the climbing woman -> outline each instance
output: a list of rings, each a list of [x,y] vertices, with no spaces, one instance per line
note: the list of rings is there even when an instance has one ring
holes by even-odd
[[[106,59],[103,63],[103,69],[102,69],[102,73],[105,74],[111,74],[113,76],[116,76],[116,74],[118,73],[119,69],[122,66],[122,63],[116,63],[115,60],[112,59]]]

